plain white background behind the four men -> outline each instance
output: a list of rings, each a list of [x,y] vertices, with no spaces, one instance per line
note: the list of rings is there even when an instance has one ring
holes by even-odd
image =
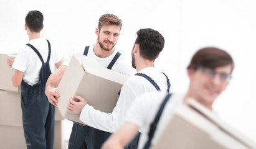
[[[199,48],[219,47],[232,55],[232,81],[214,104],[220,117],[256,142],[254,0],[0,0],[0,52],[16,52],[26,44],[25,17],[31,10],[44,14],[42,36],[64,54],[71,47],[95,43],[98,18],[105,13],[123,20],[116,49],[131,60],[136,31],[158,30],[165,38],[156,67],[171,79],[174,92],[184,93],[189,80],[186,66]],[[70,124],[64,127],[69,138]]]

